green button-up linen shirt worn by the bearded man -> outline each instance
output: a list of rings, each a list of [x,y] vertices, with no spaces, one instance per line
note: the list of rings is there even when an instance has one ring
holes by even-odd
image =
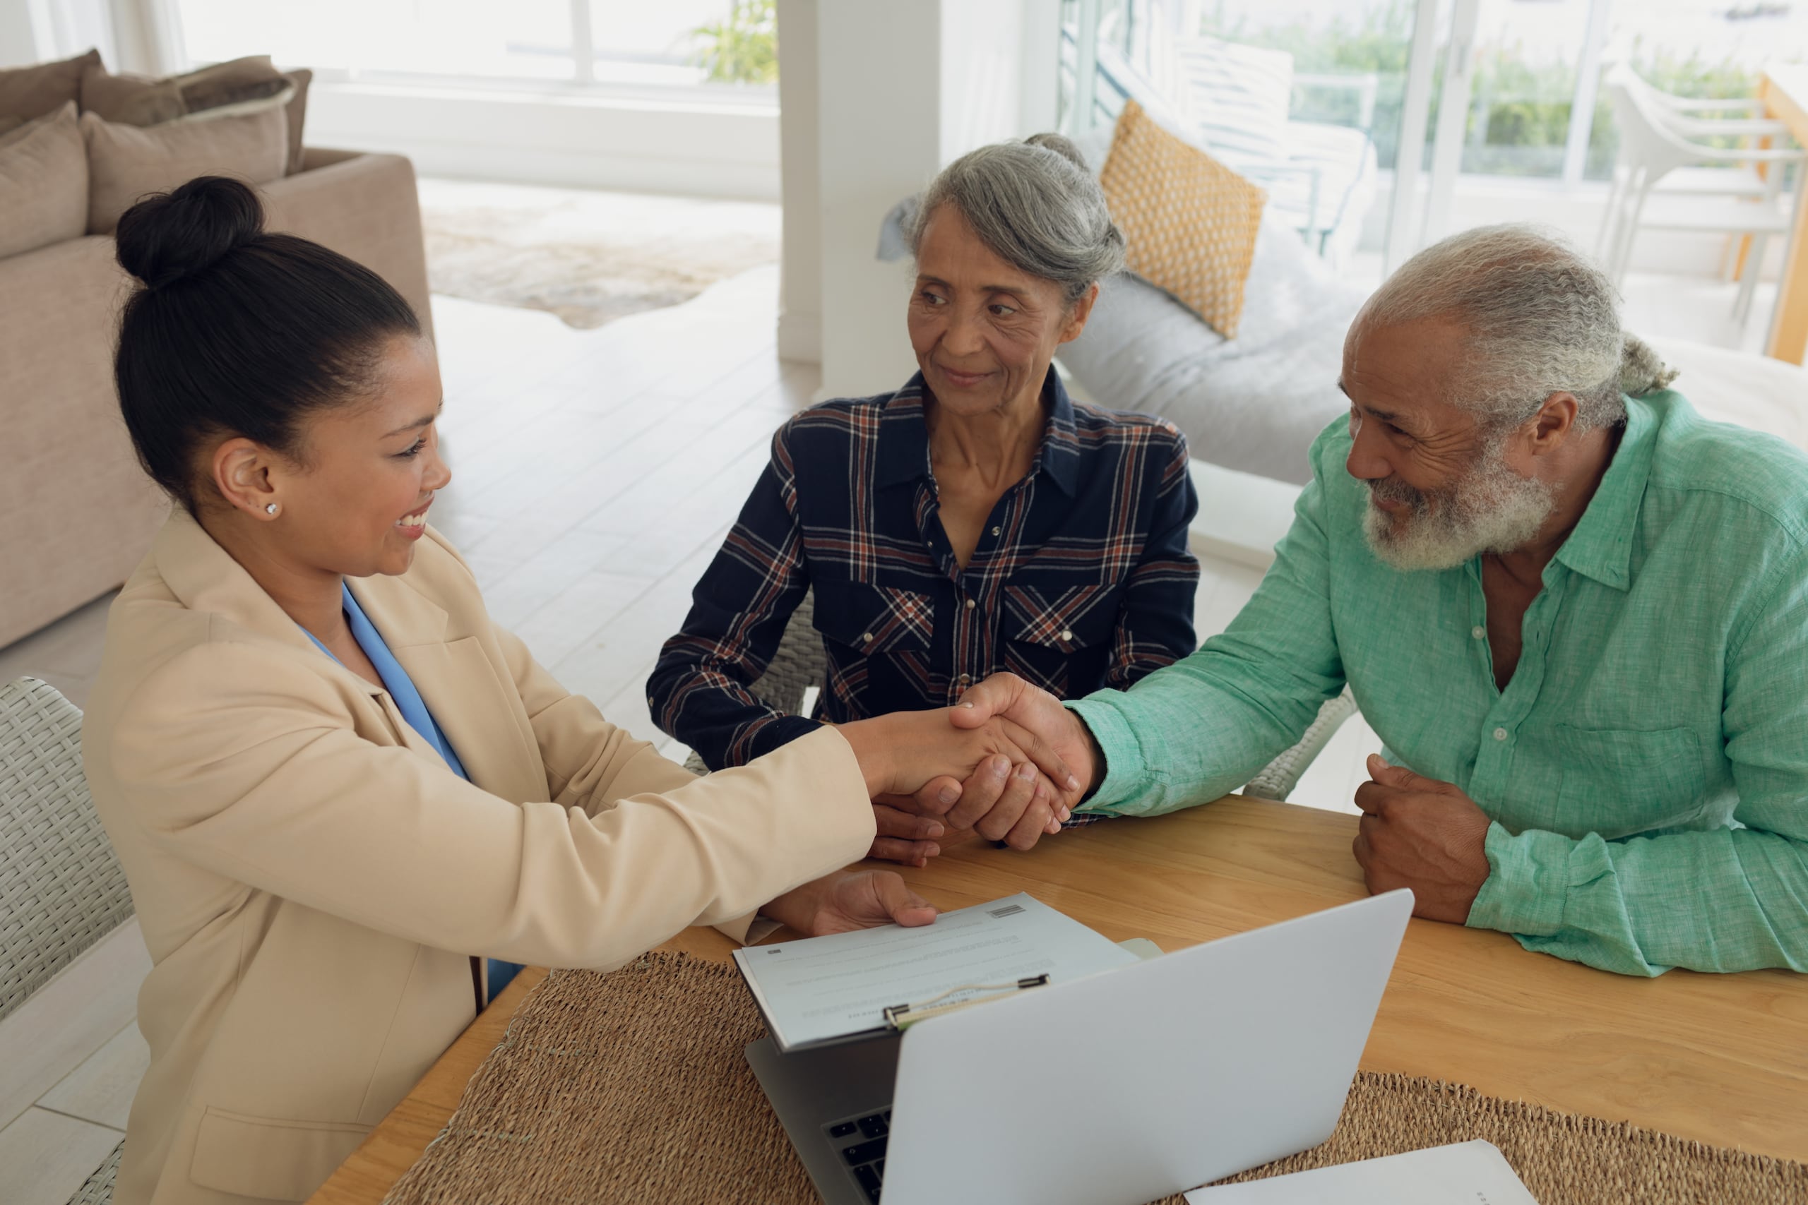
[[[1106,762],[1083,811],[1210,802],[1347,681],[1390,762],[1488,813],[1472,927],[1636,976],[1808,970],[1808,457],[1680,394],[1629,397],[1499,690],[1481,560],[1376,558],[1349,448],[1342,419],[1314,441],[1224,634],[1069,705]]]

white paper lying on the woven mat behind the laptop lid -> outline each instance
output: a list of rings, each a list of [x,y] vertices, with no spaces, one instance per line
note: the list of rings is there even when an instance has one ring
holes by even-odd
[[[1193,1189],[1188,1205],[1539,1205],[1492,1142]]]

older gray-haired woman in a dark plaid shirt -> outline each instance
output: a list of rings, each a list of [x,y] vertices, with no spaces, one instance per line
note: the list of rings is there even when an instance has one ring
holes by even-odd
[[[1199,500],[1166,421],[1067,396],[1123,235],[1072,143],[949,164],[909,228],[918,372],[790,419],[647,681],[658,724],[712,768],[821,726],[958,703],[1011,670],[1059,697],[1126,688],[1193,650]],[[828,654],[817,717],[749,690],[805,593]],[[922,864],[944,827],[1032,845],[1061,791],[1003,762],[873,804],[871,855]]]

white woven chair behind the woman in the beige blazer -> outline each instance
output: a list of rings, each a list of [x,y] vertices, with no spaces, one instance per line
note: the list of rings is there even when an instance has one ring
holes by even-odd
[[[36,677],[0,687],[0,1019],[130,916],[81,777],[81,708]],[[105,1205],[118,1174],[114,1147],[71,1205]]]

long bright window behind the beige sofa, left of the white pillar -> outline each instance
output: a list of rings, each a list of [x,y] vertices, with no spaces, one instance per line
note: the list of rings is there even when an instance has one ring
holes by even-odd
[[[774,0],[168,0],[197,63],[770,96]]]

